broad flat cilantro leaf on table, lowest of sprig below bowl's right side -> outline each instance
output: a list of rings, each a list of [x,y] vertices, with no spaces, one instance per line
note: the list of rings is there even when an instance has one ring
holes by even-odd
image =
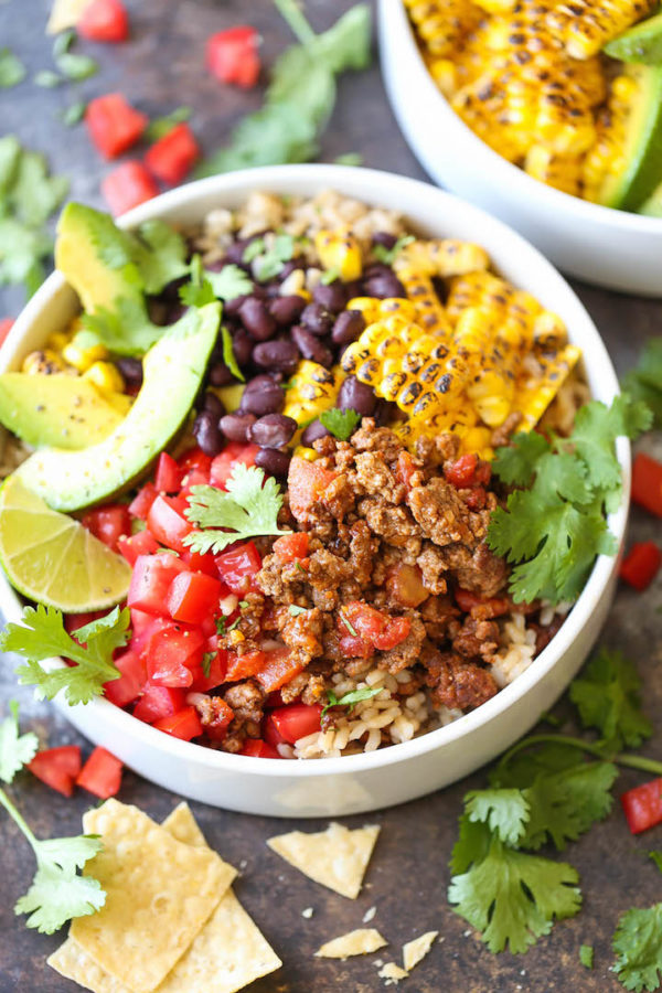
[[[516,954],[548,935],[554,918],[578,912],[577,882],[567,863],[517,852],[493,835],[485,857],[451,878],[448,899],[490,951],[510,947]]]

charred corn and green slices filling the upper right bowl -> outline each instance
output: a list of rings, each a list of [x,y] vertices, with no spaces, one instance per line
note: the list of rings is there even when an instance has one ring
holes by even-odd
[[[494,151],[565,193],[661,215],[653,0],[404,2],[441,93]]]

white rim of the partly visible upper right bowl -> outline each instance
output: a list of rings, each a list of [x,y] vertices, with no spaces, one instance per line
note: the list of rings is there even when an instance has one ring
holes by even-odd
[[[398,39],[397,43],[405,46],[407,56],[415,64],[418,72],[419,85],[427,90],[425,93],[426,99],[436,100],[440,108],[440,116],[444,118],[440,124],[440,130],[448,127],[457,127],[462,132],[463,140],[469,145],[471,154],[484,159],[485,172],[493,177],[491,180],[492,185],[503,183],[508,186],[517,188],[520,193],[525,193],[534,201],[541,201],[549,211],[574,212],[574,220],[577,223],[581,221],[597,222],[607,227],[616,225],[619,228],[624,228],[630,234],[644,232],[650,235],[659,233],[662,237],[662,217],[649,217],[645,214],[637,214],[632,211],[619,211],[617,207],[604,206],[589,200],[583,200],[580,196],[573,196],[572,193],[565,193],[563,190],[556,190],[554,186],[549,186],[541,180],[528,175],[523,169],[509,162],[508,159],[504,159],[503,156],[490,148],[456,114],[433,79],[418,47],[414,26],[407,17],[403,0],[378,0],[378,3],[381,30],[388,31],[389,34],[393,32],[393,38]],[[388,28],[385,28],[385,24]]]

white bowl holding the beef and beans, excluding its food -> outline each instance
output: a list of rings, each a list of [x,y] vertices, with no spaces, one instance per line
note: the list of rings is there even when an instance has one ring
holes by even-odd
[[[194,224],[216,206],[237,206],[255,189],[313,195],[333,188],[375,205],[402,211],[423,234],[481,244],[501,274],[530,290],[566,321],[569,338],[587,357],[594,396],[618,392],[611,362],[586,310],[564,279],[531,245],[500,221],[435,186],[369,169],[279,166],[201,180],[164,193],[122,218],[131,227],[151,217]],[[0,372],[20,366],[77,310],[77,299],[54,273],[30,300],[0,351]],[[623,502],[610,517],[622,542],[629,498],[630,448],[619,439]],[[274,816],[359,813],[402,803],[447,786],[508,748],[538,719],[575,675],[609,609],[616,558],[598,558],[559,633],[510,686],[448,727],[367,755],[277,761],[213,751],[154,730],[113,704],[58,706],[86,737],[103,745],[147,779],[216,807]],[[0,609],[18,620],[21,605],[0,576]]]

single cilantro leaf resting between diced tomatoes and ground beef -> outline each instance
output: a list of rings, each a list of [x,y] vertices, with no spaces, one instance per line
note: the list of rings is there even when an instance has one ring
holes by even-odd
[[[227,492],[215,487],[193,487],[186,517],[209,528],[185,536],[184,544],[193,552],[216,554],[248,537],[286,534],[278,527],[282,494],[271,476],[265,476],[255,466],[237,462],[226,485]]]

